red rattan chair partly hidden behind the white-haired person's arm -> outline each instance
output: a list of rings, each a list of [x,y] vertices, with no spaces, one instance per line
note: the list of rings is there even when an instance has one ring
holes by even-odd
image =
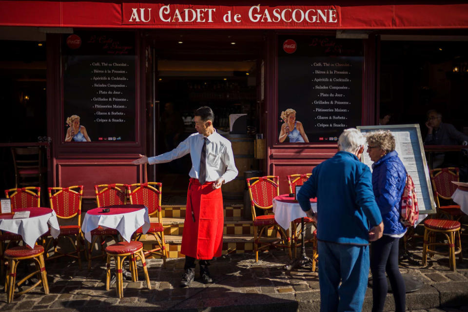
[[[288,185],[289,193],[296,193],[296,186],[303,185],[312,174],[296,174],[288,176]],[[297,256],[297,247],[301,247],[301,231],[298,229],[298,226],[301,224],[301,219],[295,219],[292,221],[292,245],[294,246],[294,257]],[[316,224],[309,217],[304,217],[304,228],[306,224],[313,224],[316,227]],[[304,229],[305,230],[305,229]],[[306,243],[312,243],[312,271],[315,272],[315,267],[317,264],[318,253],[317,253],[317,230],[314,229],[312,232],[312,238],[305,241]]]

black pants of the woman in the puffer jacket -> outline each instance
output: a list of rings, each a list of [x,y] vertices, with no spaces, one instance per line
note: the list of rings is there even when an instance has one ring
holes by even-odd
[[[372,312],[384,309],[385,297],[389,290],[389,276],[395,311],[405,312],[405,282],[398,269],[399,238],[383,235],[382,238],[370,243],[370,272],[372,273]]]

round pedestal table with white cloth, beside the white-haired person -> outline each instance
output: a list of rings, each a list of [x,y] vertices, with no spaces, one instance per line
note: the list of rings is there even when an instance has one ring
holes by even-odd
[[[311,203],[312,211],[316,213],[317,199],[311,198]],[[304,243],[304,218],[307,216],[306,213],[301,209],[301,206],[295,201],[294,197],[290,197],[289,194],[273,198],[273,213],[276,223],[285,230],[290,228],[292,221],[301,218],[301,254],[284,268],[287,271],[291,271],[297,267],[303,268],[308,266],[312,270],[312,260],[306,255],[306,244]]]

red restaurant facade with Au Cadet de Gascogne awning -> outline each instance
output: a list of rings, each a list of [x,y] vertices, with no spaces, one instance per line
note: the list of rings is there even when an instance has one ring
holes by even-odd
[[[331,157],[344,128],[378,124],[383,37],[468,35],[468,3],[328,2],[0,0],[0,27],[46,33],[49,186],[82,184],[92,198],[95,184],[144,181],[130,161],[168,148],[172,97],[189,128],[184,112],[214,106],[233,142],[252,143],[234,150],[242,171],[281,176],[287,193],[286,176]],[[279,141],[288,108],[309,142]],[[65,141],[72,115],[91,142]],[[230,115],[247,116],[248,130],[232,135]]]

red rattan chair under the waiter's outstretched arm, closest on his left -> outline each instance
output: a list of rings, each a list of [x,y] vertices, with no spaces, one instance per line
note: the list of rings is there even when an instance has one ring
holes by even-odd
[[[151,222],[147,235],[153,235],[157,242],[157,247],[150,250],[143,250],[145,256],[160,256],[166,265],[167,251],[164,240],[164,228],[162,226],[161,195],[162,183],[147,182],[127,185],[130,203],[134,205],[145,205],[148,208],[148,215],[156,218],[156,222]],[[141,227],[135,232],[137,240],[143,236]]]

